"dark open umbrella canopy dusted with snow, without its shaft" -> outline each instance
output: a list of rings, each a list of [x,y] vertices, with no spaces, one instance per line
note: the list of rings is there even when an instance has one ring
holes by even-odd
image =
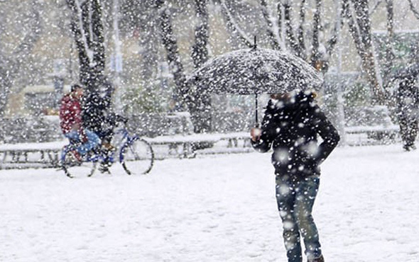
[[[188,83],[209,93],[283,93],[319,89],[322,78],[295,55],[255,47],[210,59],[192,72]]]

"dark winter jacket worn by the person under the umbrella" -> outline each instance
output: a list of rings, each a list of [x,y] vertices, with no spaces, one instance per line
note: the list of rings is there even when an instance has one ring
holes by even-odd
[[[273,149],[272,164],[278,175],[305,177],[320,174],[318,166],[337,146],[339,135],[315,104],[312,93],[297,93],[289,102],[269,101],[258,142],[259,152]],[[317,135],[322,143],[317,144]]]

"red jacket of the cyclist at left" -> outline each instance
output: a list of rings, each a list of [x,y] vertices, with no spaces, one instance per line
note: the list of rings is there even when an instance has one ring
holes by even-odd
[[[71,93],[61,99],[60,127],[64,134],[72,130],[82,133],[82,105],[80,100],[73,97]]]

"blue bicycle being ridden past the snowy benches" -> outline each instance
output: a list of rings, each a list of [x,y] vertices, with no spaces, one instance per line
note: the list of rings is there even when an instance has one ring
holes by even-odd
[[[82,161],[75,159],[74,152],[77,143],[70,141],[70,144],[62,148],[60,156],[60,167],[65,175],[69,178],[74,178],[75,174],[78,176],[85,173],[87,173],[87,176],[92,176],[98,162],[107,161],[111,165],[117,160],[128,175],[149,173],[154,163],[154,152],[151,144],[136,134],[131,135],[126,125],[117,130],[115,135],[121,135],[119,141],[115,143],[115,150],[106,152],[98,146],[82,156]]]

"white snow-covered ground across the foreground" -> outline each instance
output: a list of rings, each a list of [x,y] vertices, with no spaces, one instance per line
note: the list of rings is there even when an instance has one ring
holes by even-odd
[[[148,176],[0,171],[0,261],[286,261],[268,154],[157,161]],[[419,150],[336,149],[314,217],[326,261],[419,261]]]

